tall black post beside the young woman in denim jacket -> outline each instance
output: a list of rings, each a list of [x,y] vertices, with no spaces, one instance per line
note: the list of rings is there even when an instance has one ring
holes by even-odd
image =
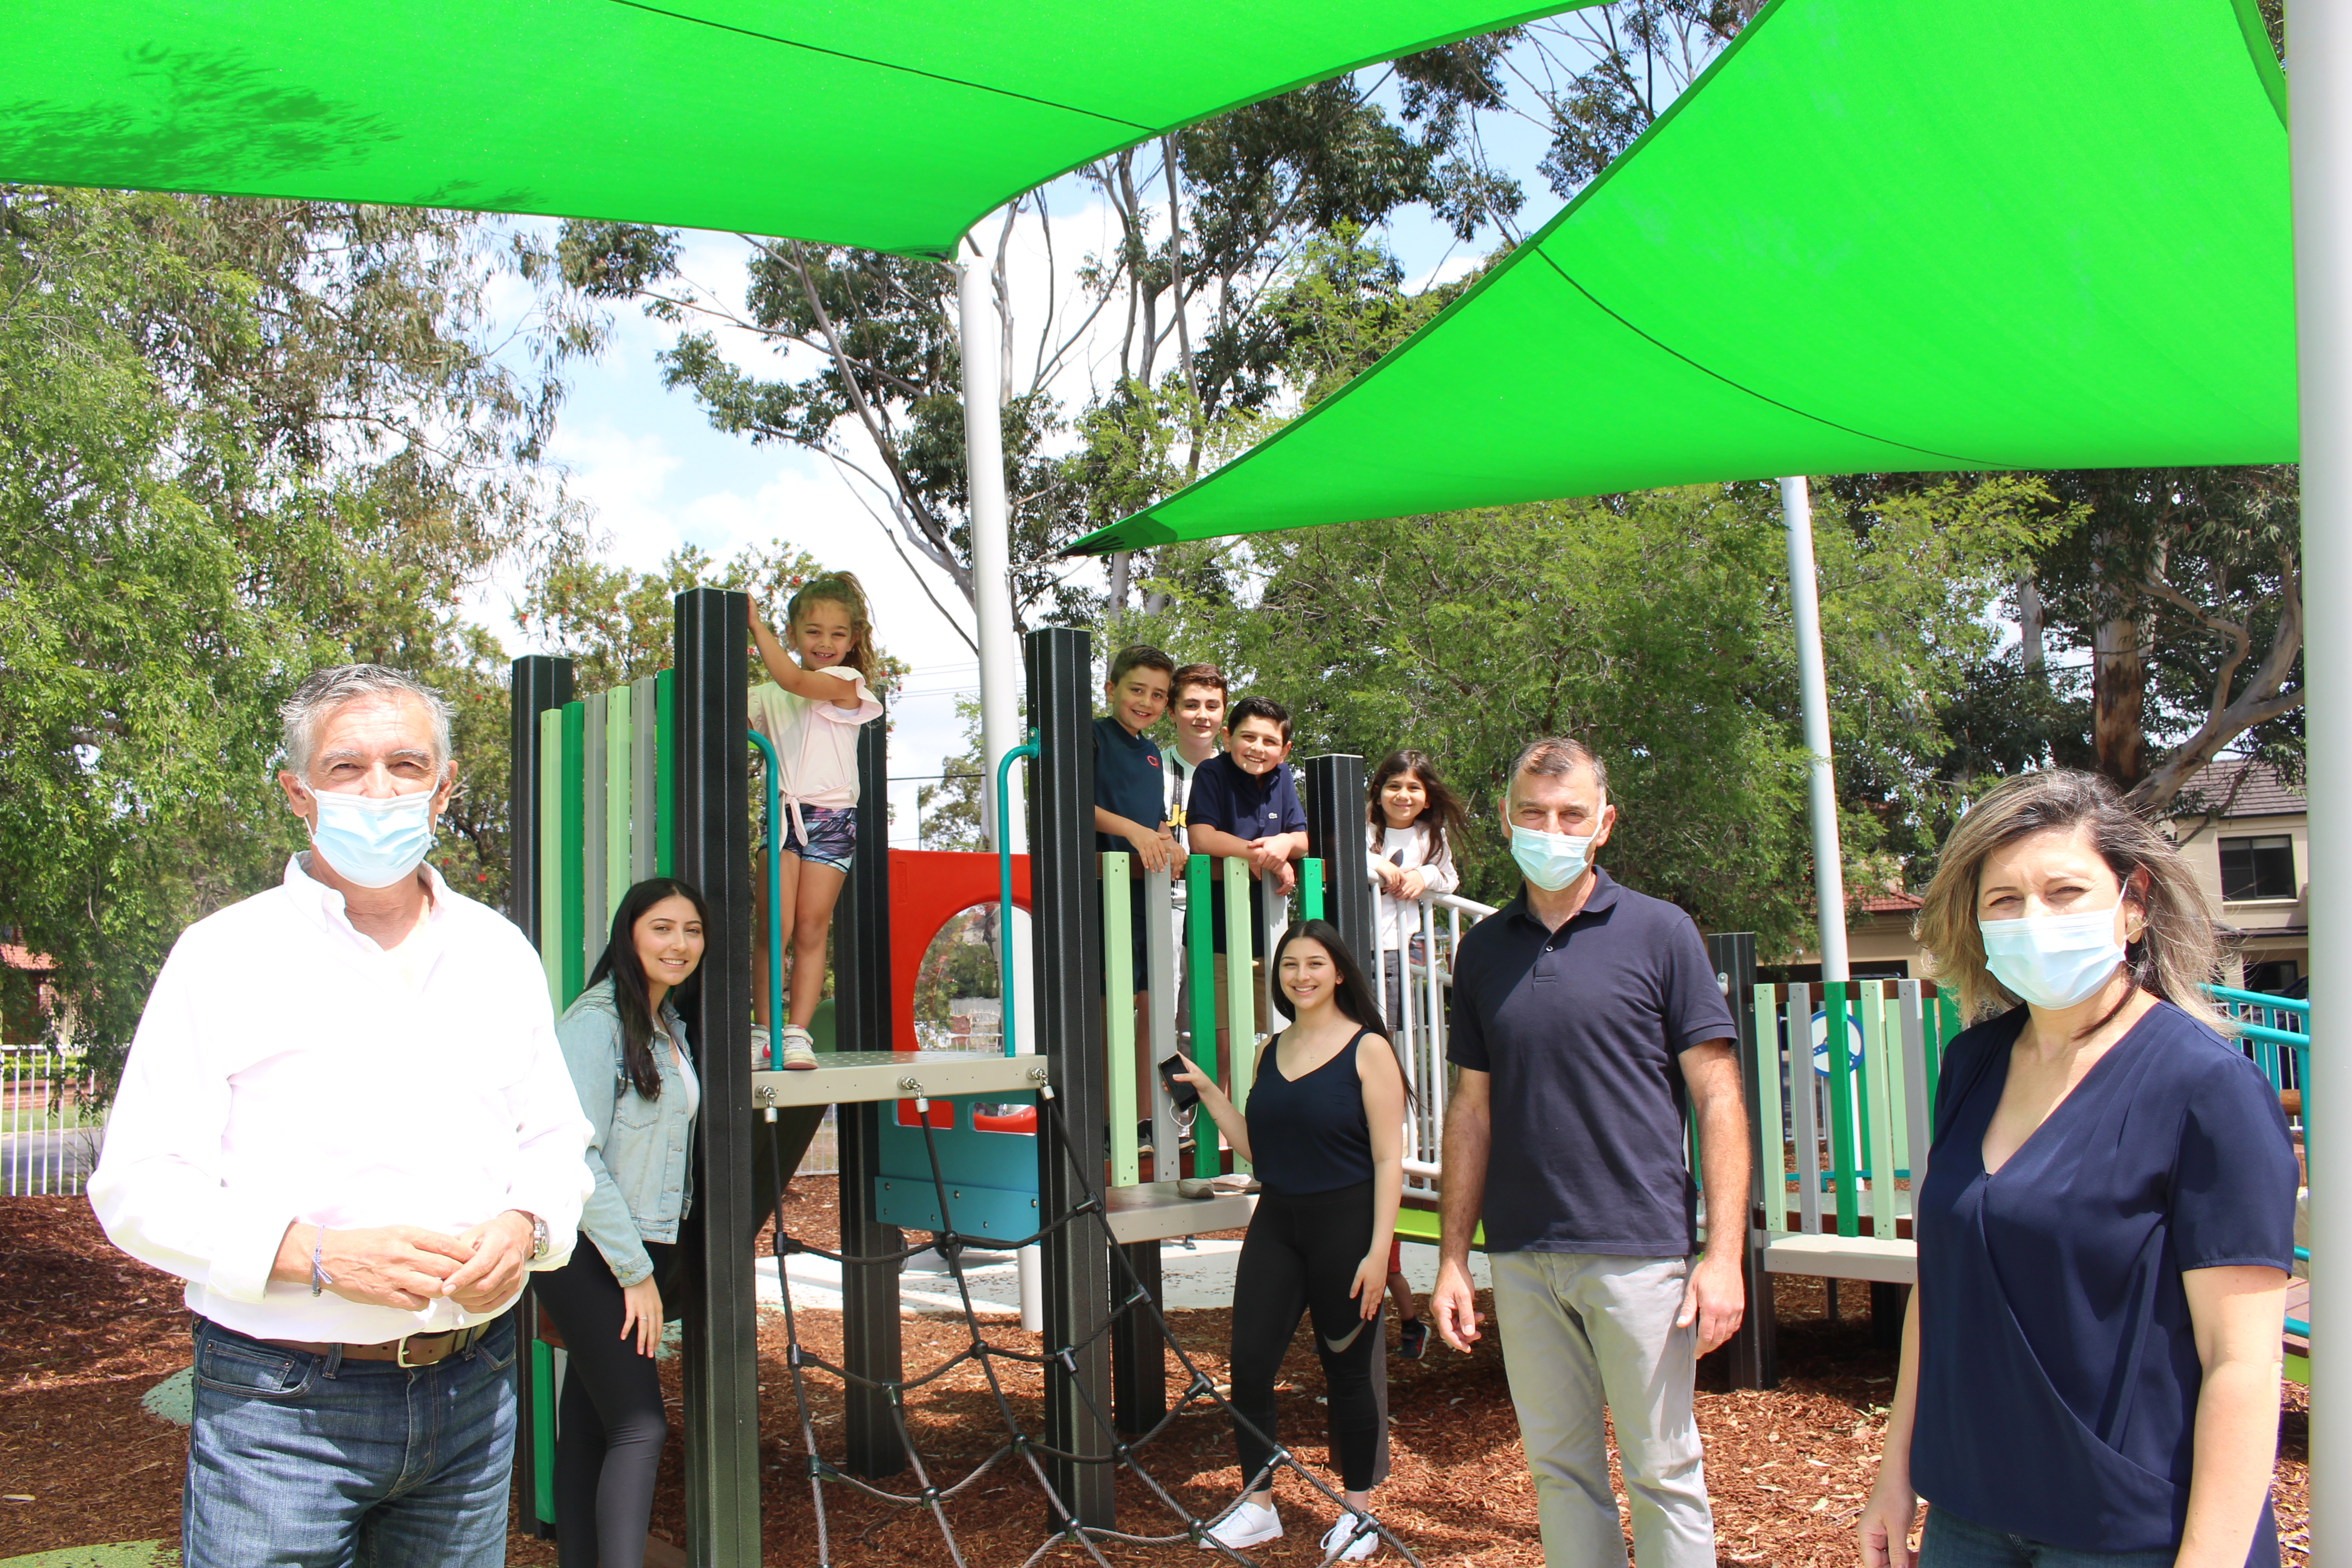
[[[687,1258],[687,1559],[760,1563],[760,1345],[755,1335],[750,1112],[750,741],[748,599],[677,595],[677,875],[710,905],[701,1004],[691,1020],[703,1114]]]

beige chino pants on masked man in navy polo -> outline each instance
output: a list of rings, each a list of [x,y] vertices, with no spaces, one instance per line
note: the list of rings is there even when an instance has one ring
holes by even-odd
[[[1491,1253],[1489,1265],[1545,1568],[1625,1563],[1604,1403],[1632,1507],[1632,1561],[1715,1568],[1715,1514],[1691,1415],[1698,1328],[1675,1328],[1691,1260]]]

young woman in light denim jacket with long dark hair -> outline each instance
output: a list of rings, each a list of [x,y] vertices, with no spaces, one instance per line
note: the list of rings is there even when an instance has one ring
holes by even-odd
[[[572,1352],[555,1443],[555,1554],[562,1568],[642,1568],[654,1467],[670,1436],[654,1347],[654,1284],[694,1201],[701,1084],[677,990],[703,961],[703,896],[675,877],[640,882],[612,917],[588,990],[555,1025],[581,1112],[595,1128],[572,1262],[536,1276]]]

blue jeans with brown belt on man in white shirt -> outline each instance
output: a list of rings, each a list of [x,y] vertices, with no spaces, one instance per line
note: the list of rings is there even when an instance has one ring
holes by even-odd
[[[447,1361],[343,1361],[195,1321],[186,1568],[499,1568],[515,1316]]]

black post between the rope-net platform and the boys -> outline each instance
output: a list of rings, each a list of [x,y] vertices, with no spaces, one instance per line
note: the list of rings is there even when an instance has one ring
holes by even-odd
[[[1030,929],[1037,1037],[1061,1105],[1061,1121],[1084,1180],[1054,1145],[1037,1140],[1037,1213],[1063,1215],[1103,1182],[1103,910],[1094,870],[1094,656],[1087,632],[1028,635],[1028,710],[1037,726],[1030,773]],[[1044,1131],[1044,1128],[1040,1128]],[[1044,1347],[1070,1349],[1070,1366],[1047,1366],[1044,1441],[1065,1453],[1110,1455],[1110,1248],[1094,1222],[1063,1225],[1044,1241]],[[1047,1458],[1044,1472],[1077,1523],[1110,1528],[1110,1465]],[[1065,1528],[1051,1516],[1049,1526]]]

